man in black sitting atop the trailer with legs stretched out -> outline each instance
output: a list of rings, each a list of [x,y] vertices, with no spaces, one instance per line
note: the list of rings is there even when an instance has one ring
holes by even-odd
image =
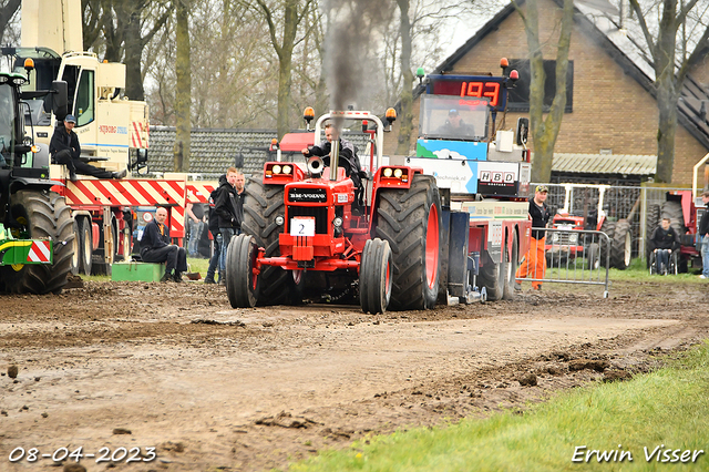
[[[76,182],[76,173],[92,175],[96,178],[123,178],[127,174],[126,170],[111,172],[104,168],[94,167],[81,161],[81,146],[79,136],[74,133],[76,119],[74,115],[64,116],[64,125],[58,125],[49,143],[49,153],[52,155],[52,163],[63,164],[69,170],[69,179]]]

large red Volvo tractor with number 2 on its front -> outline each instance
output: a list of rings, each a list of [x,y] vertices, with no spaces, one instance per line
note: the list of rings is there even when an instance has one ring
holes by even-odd
[[[317,156],[306,166],[267,162],[246,185],[243,234],[227,250],[233,307],[292,305],[304,297],[352,302],[358,296],[371,314],[435,305],[442,212],[434,177],[384,165],[384,125],[369,112],[321,116],[307,144],[319,144],[323,121],[335,119],[357,120],[369,134],[363,202],[356,202],[358,188],[337,158],[331,166]],[[387,119],[395,119],[392,109]]]

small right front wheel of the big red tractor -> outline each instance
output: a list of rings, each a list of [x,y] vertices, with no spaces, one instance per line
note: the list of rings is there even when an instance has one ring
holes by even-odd
[[[359,301],[362,311],[387,311],[391,299],[392,258],[389,243],[379,238],[364,243],[359,268]]]

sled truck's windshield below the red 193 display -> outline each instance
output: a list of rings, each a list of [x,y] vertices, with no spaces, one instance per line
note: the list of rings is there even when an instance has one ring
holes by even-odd
[[[422,95],[419,134],[423,138],[486,141],[485,99]]]

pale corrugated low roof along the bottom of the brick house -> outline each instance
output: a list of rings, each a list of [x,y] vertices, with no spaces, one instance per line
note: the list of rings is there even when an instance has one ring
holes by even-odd
[[[568,174],[654,175],[656,155],[554,153],[552,172]]]

